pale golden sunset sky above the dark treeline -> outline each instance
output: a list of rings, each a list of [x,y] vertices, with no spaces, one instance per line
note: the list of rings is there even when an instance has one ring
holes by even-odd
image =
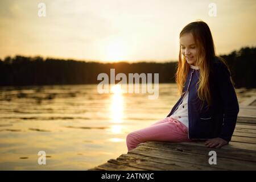
[[[179,33],[197,19],[208,23],[217,54],[230,53],[256,46],[255,10],[255,0],[1,0],[0,58],[177,60]]]

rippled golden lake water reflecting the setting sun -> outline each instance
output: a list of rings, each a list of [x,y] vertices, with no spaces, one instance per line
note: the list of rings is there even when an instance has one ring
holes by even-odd
[[[239,102],[255,89],[237,89]],[[97,85],[0,88],[1,170],[86,170],[126,154],[126,135],[163,119],[175,84],[150,94],[99,94]],[[38,152],[46,152],[46,165]]]

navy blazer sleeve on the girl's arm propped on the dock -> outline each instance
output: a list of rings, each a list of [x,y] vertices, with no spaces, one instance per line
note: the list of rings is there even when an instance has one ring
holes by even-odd
[[[224,119],[218,137],[229,142],[236,127],[239,105],[234,86],[230,80],[230,72],[224,63],[220,63],[217,69],[217,84],[222,103],[224,103]]]

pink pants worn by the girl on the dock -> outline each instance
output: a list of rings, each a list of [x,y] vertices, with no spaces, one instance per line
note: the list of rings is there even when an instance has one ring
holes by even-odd
[[[146,141],[191,142],[188,128],[177,119],[167,117],[145,129],[133,131],[126,137],[128,151]]]

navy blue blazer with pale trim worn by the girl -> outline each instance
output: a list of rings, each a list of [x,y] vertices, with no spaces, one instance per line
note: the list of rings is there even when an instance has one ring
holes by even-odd
[[[220,137],[229,142],[236,127],[239,106],[237,95],[230,80],[230,72],[224,63],[214,57],[210,63],[210,95],[212,105],[204,102],[197,95],[200,72],[199,69],[189,68],[183,92],[188,93],[188,137],[189,139],[209,139]],[[183,93],[172,110],[172,115],[181,104]]]

